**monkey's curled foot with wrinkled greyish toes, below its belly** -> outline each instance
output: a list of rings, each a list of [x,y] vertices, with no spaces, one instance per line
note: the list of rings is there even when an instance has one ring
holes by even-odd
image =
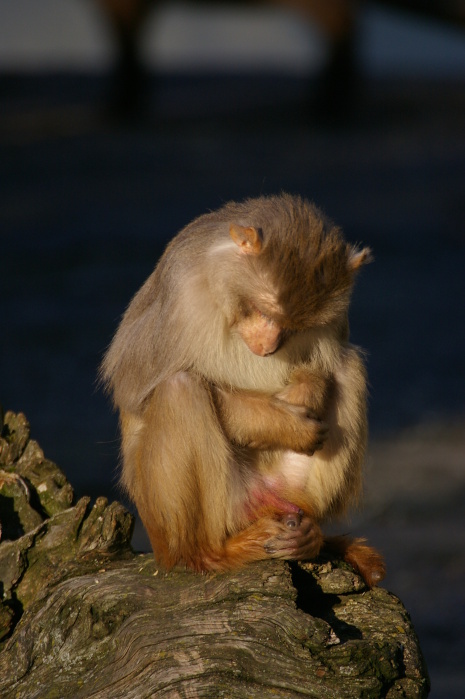
[[[314,520],[302,511],[289,513],[281,518],[281,527],[282,531],[265,544],[271,558],[304,561],[318,556],[323,534]]]

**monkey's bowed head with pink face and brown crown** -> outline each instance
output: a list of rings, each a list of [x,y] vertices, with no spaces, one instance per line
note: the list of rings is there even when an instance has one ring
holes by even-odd
[[[281,195],[245,203],[229,234],[237,246],[236,325],[249,349],[273,354],[287,336],[344,323],[369,248],[348,244],[308,201]]]

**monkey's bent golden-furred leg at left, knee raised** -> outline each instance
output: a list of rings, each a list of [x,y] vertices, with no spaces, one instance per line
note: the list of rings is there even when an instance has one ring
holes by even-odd
[[[121,424],[124,431],[130,421]],[[202,569],[206,552],[221,550],[226,532],[239,528],[244,507],[241,476],[204,382],[180,372],[160,384],[137,434],[123,434],[123,456],[123,482],[156,559]]]

